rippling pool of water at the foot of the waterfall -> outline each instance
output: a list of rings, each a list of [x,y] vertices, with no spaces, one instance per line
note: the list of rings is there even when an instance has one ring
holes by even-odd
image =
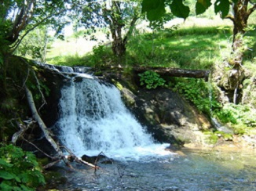
[[[94,171],[58,168],[61,190],[256,190],[256,153],[182,150],[184,155],[115,160]]]

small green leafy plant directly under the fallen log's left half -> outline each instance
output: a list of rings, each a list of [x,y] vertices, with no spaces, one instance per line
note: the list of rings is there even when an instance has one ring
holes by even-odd
[[[140,77],[141,85],[146,85],[146,88],[148,89],[163,86],[166,82],[159,74],[150,70],[138,75]]]

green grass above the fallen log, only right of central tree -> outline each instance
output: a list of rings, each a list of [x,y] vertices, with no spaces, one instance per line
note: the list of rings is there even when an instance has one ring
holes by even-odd
[[[151,67],[209,69],[229,49],[231,31],[218,27],[191,27],[133,38],[128,55],[133,62]]]

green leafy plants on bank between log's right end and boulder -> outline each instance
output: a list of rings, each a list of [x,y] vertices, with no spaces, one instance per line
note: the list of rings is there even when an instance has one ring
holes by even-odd
[[[202,79],[187,78],[174,82],[174,91],[181,93],[204,114],[211,115],[212,110],[220,108],[220,104],[210,96],[210,89]]]

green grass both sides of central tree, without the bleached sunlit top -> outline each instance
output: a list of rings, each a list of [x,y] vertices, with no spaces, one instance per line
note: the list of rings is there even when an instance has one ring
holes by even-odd
[[[126,66],[210,69],[221,59],[221,53],[230,49],[231,36],[230,27],[185,27],[176,31],[140,34],[131,38],[127,44],[125,64]],[[55,57],[51,53],[50,56],[47,62],[58,65],[92,67],[115,64],[111,49],[101,46],[84,56],[78,53]]]

